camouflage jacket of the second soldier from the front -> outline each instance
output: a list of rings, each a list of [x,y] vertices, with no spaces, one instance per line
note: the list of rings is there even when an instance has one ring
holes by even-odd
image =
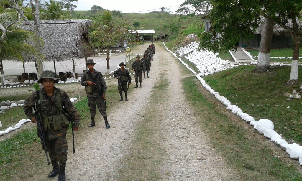
[[[82,86],[88,85],[87,81],[92,81],[92,78],[87,74],[87,72],[91,73],[89,70],[85,71],[83,73],[82,80],[81,80]],[[97,73],[98,73],[98,71],[95,70],[95,72],[92,74],[92,76],[95,77]],[[103,94],[105,94],[106,90],[107,90],[107,85],[106,85],[105,79],[101,75],[101,72],[99,73],[99,76],[96,78],[96,81],[98,82],[98,84],[101,85],[101,87],[103,88]],[[87,97],[101,97],[100,94],[98,94],[98,89],[96,86],[92,87],[92,92],[93,92],[92,94],[87,94]]]

